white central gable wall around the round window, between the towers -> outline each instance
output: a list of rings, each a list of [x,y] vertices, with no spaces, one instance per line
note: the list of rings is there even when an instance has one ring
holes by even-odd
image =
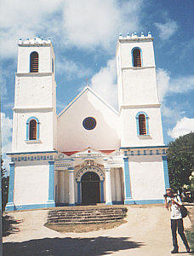
[[[83,120],[88,117],[95,120],[92,130],[83,126]],[[118,127],[117,111],[87,87],[58,116],[57,149],[69,152],[119,148]]]

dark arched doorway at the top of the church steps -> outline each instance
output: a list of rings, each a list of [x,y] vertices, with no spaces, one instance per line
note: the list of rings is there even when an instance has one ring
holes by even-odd
[[[95,172],[85,172],[82,180],[82,203],[84,205],[100,202],[100,177]]]

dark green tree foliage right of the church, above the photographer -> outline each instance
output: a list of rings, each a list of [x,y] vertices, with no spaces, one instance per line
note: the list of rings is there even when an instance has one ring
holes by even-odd
[[[194,171],[194,132],[178,137],[169,143],[167,150],[170,186],[177,191],[187,185],[191,188],[191,172]],[[189,178],[190,177],[190,178]]]

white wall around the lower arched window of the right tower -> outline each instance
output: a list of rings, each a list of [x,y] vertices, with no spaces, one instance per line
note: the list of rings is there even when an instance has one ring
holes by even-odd
[[[135,116],[138,112],[147,113],[149,136],[138,136]],[[121,112],[121,147],[163,145],[163,127],[160,108],[125,108]]]

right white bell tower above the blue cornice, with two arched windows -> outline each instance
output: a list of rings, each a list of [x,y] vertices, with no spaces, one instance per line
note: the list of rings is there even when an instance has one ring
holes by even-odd
[[[163,145],[153,38],[136,33],[117,42],[121,147]]]

